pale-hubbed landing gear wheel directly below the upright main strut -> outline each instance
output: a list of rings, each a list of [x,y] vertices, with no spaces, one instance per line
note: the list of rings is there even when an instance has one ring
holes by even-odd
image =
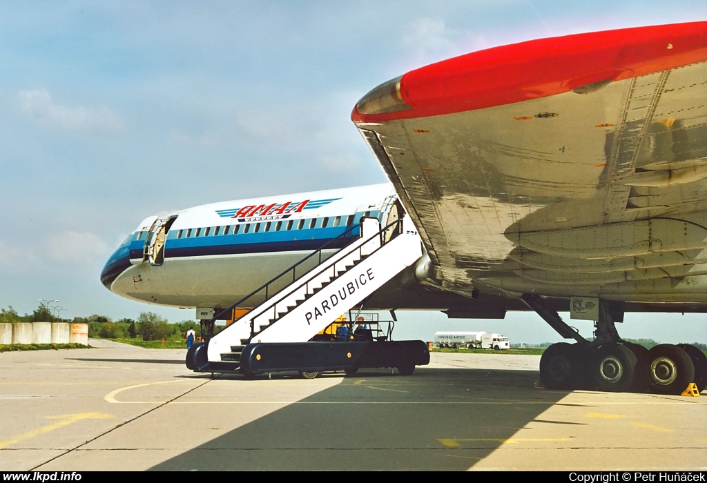
[[[592,357],[590,366],[594,387],[614,393],[630,390],[636,362],[636,356],[629,347],[613,342],[602,345]]]

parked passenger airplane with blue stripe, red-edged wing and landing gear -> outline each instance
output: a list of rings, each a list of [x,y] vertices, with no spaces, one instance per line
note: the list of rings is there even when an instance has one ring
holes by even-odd
[[[148,217],[101,280],[123,297],[211,318],[311,251],[319,257],[305,259],[308,270],[332,257],[337,273],[338,250],[363,237],[387,243],[382,234],[403,220],[419,253],[406,245],[414,261],[366,294],[367,309],[532,310],[574,340],[544,352],[548,388],[703,390],[707,357],[696,347],[646,350],[621,339],[616,323],[626,311],[707,311],[706,99],[704,21],[440,61],[382,83],[353,109],[390,184]],[[378,222],[373,237],[367,220]],[[253,297],[250,306],[269,298]],[[595,321],[593,340],[558,311]],[[273,320],[258,337],[268,340]]]

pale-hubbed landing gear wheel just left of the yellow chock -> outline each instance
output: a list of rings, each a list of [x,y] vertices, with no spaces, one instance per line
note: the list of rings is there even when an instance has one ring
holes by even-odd
[[[660,344],[648,351],[650,390],[658,394],[679,394],[695,377],[690,356],[677,345]]]

